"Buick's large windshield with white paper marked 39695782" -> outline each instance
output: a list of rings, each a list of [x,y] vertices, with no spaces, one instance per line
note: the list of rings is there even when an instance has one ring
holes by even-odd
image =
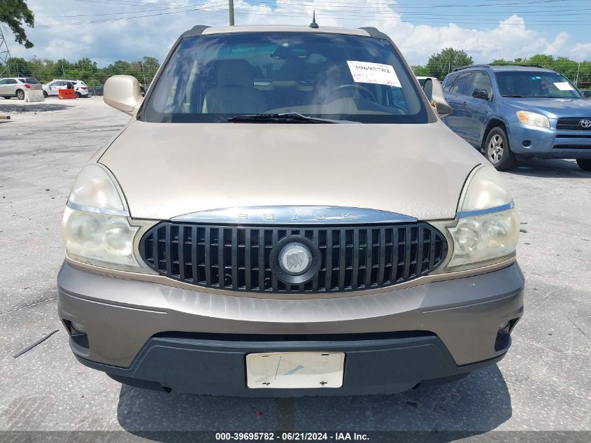
[[[388,41],[321,33],[184,38],[145,105],[149,122],[227,122],[299,113],[367,123],[426,123],[429,114]]]

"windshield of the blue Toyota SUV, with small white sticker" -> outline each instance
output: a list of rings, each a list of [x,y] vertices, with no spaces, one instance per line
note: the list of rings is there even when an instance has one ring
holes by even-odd
[[[576,87],[559,73],[501,71],[496,76],[503,97],[581,98]]]

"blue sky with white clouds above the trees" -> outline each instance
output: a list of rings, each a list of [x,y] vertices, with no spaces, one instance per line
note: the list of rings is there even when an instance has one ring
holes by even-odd
[[[164,59],[194,24],[228,24],[228,0],[27,0],[35,27],[30,50],[4,29],[10,55],[99,67],[115,60]],[[236,25],[373,26],[388,34],[410,64],[443,48],[475,62],[537,53],[591,59],[591,0],[234,0]]]

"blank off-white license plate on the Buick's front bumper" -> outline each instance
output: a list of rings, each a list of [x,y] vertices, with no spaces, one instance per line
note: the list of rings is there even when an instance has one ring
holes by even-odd
[[[270,352],[246,356],[249,388],[340,388],[343,352]]]

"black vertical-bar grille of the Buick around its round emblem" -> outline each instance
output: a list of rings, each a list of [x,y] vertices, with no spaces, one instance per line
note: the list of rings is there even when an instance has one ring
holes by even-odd
[[[271,251],[304,237],[320,267],[290,284],[273,272]],[[336,293],[403,283],[446,257],[445,237],[427,223],[397,225],[234,226],[162,222],[146,232],[140,254],[163,276],[206,288],[254,293]]]

